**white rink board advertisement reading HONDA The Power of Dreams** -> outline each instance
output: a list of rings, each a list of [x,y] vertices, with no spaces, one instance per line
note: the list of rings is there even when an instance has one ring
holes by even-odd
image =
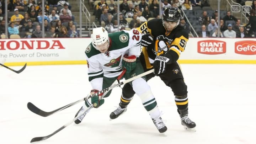
[[[88,38],[1,39],[0,59],[8,62],[84,60],[89,43]]]

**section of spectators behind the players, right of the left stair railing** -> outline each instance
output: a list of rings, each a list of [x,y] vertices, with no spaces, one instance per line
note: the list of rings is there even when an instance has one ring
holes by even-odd
[[[119,3],[119,23],[117,26],[117,4],[114,0],[90,0],[94,9],[96,22],[105,27],[108,32],[139,27],[149,18],[159,18],[158,0],[123,0]],[[94,5],[95,4],[95,5]],[[256,0],[252,2],[252,11],[249,23],[242,24],[240,20],[231,15],[230,11],[223,11],[220,16],[220,34],[218,34],[218,10],[212,10],[209,0],[161,0],[162,10],[167,6],[176,6],[185,11],[186,18],[181,18],[180,25],[190,33],[192,27],[199,37],[251,37],[256,36]],[[208,8],[203,10],[204,8]],[[161,11],[162,11],[161,10]],[[209,11],[208,11],[209,10]],[[188,14],[190,12],[190,14]],[[189,25],[191,23],[192,27]],[[195,27],[194,27],[195,26]],[[249,32],[246,27],[250,27]],[[255,34],[254,34],[255,33]]]

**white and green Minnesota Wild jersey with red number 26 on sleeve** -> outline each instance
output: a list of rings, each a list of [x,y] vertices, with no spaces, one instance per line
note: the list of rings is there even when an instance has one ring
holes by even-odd
[[[106,53],[98,51],[92,43],[85,50],[89,81],[103,78],[103,75],[108,78],[119,76],[122,73],[123,56],[140,55],[142,34],[137,29],[109,33],[108,37],[110,47]]]

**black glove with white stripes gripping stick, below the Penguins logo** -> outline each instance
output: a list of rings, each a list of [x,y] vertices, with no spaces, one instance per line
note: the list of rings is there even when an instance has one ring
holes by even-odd
[[[167,58],[166,54],[160,54],[156,56],[153,64],[155,69],[154,73],[156,76],[165,72],[167,63],[172,63],[172,61],[169,58]]]

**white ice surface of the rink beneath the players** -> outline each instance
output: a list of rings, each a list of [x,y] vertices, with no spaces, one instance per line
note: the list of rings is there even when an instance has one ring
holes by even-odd
[[[197,131],[183,129],[171,89],[157,77],[149,81],[162,119],[160,134],[137,95],[125,114],[109,121],[121,89],[71,124],[38,144],[255,144],[256,65],[182,64],[188,86],[189,117]],[[12,66],[20,69],[21,66]],[[49,117],[27,109],[32,102],[52,111],[85,97],[90,89],[86,65],[27,66],[20,74],[0,67],[0,144],[29,144],[74,118],[82,103]]]

